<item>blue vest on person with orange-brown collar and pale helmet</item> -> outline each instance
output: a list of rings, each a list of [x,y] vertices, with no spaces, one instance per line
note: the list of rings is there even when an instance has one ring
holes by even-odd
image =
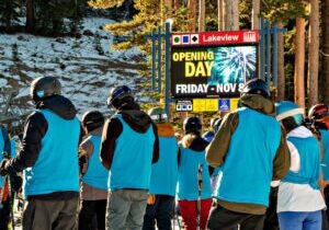
[[[149,193],[174,196],[178,179],[178,143],[174,136],[159,137],[160,157],[152,164]]]

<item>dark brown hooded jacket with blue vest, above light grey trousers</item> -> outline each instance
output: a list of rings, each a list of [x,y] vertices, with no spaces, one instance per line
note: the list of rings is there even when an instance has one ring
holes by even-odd
[[[111,189],[148,189],[151,163],[159,158],[157,127],[146,113],[127,106],[105,122],[101,161],[110,170]]]

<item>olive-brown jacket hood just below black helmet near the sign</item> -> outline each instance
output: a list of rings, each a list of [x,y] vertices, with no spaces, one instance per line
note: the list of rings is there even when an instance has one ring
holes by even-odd
[[[263,114],[275,116],[274,103],[261,95],[246,94],[240,97],[240,103],[247,107],[259,111]]]

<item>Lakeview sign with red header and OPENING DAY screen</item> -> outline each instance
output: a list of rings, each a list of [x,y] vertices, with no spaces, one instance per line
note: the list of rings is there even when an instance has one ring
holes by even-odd
[[[238,96],[257,77],[258,31],[173,34],[171,42],[175,99]]]

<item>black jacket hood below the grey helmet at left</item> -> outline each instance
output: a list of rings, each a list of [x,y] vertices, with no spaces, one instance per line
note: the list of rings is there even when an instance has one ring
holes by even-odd
[[[77,110],[72,102],[63,95],[46,97],[36,104],[36,108],[47,108],[64,119],[72,119],[77,115]]]

